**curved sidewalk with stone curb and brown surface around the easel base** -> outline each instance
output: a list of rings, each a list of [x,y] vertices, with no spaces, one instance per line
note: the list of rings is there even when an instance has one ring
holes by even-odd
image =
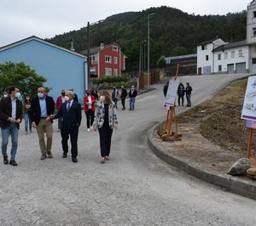
[[[256,200],[256,181],[224,173],[235,161],[245,156],[234,153],[224,155],[222,151],[220,159],[220,148],[196,133],[195,125],[179,125],[179,133],[183,134],[181,141],[163,142],[156,133],[157,126],[159,124],[148,131],[148,144],[161,160],[196,178]]]

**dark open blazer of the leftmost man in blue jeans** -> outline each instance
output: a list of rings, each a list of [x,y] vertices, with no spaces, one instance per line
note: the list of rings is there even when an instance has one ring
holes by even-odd
[[[7,97],[0,100],[0,127],[8,127],[11,123],[8,118],[12,116],[12,100],[11,97]],[[22,119],[22,102],[20,99],[16,99],[16,117],[15,119]],[[20,128],[20,123],[16,123]]]

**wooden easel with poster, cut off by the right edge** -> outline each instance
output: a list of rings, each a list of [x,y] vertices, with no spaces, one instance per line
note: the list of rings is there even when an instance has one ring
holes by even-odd
[[[255,162],[252,158],[253,130],[256,129],[256,76],[248,77],[247,90],[241,110],[241,119],[246,120],[246,127],[249,128],[247,158]]]

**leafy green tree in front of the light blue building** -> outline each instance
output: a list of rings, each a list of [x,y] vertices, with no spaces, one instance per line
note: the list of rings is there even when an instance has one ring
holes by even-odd
[[[16,86],[21,93],[29,93],[34,96],[38,88],[43,87],[44,82],[47,80],[44,76],[38,76],[36,71],[23,62],[15,64],[9,61],[5,64],[0,64],[0,81],[0,89],[2,91]],[[46,88],[46,90],[49,91],[49,88]]]

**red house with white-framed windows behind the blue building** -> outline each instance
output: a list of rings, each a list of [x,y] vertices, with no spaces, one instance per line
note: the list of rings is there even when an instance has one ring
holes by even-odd
[[[81,51],[87,55],[87,49]],[[90,48],[90,74],[96,76],[120,76],[125,70],[125,54],[119,45],[113,43]]]

